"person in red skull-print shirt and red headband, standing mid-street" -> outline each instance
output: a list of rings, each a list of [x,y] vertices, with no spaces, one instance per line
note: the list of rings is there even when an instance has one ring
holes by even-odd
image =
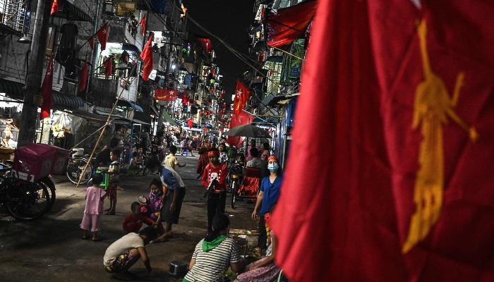
[[[217,213],[224,214],[224,207],[227,204],[227,166],[219,162],[219,150],[211,148],[207,150],[207,157],[210,163],[204,168],[201,182],[207,189],[213,180],[217,180],[212,190],[207,194],[207,233],[212,231],[212,218]]]

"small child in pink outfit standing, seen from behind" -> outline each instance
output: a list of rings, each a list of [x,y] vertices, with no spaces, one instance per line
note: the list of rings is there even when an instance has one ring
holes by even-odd
[[[107,192],[100,188],[103,182],[101,173],[96,173],[92,176],[92,187],[86,188],[86,207],[84,210],[83,222],[80,223],[80,228],[84,229],[83,240],[89,238],[89,227],[91,226],[92,240],[100,241],[97,233],[100,231],[100,218],[103,213],[103,201]]]

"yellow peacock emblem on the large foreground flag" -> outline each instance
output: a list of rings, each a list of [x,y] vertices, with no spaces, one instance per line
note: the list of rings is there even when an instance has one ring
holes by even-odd
[[[402,252],[409,252],[421,240],[426,238],[430,228],[438,222],[444,190],[444,149],[442,141],[442,125],[447,124],[447,117],[460,125],[469,133],[474,142],[478,135],[475,128],[469,127],[454,112],[459,99],[459,90],[464,82],[464,73],[459,73],[454,85],[453,96],[447,92],[442,79],[433,72],[427,54],[427,25],[422,20],[417,26],[423,63],[424,79],[415,91],[414,117],[412,128],[421,125],[423,140],[418,152],[418,164],[414,188],[416,211],[411,216],[408,236]]]

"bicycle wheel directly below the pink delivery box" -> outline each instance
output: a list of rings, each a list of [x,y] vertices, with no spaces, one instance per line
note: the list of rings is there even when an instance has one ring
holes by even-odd
[[[48,189],[40,183],[5,183],[9,185],[5,207],[14,219],[30,221],[46,214],[50,198]]]

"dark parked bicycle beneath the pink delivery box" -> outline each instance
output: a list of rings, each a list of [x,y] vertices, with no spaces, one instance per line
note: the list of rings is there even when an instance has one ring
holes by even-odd
[[[11,170],[5,164],[0,168],[0,172],[7,172],[0,176],[0,204],[4,204],[8,214],[14,219],[30,221],[49,212],[54,204],[50,198],[54,190],[49,191],[48,181],[42,178],[34,183],[23,183],[12,177]]]

